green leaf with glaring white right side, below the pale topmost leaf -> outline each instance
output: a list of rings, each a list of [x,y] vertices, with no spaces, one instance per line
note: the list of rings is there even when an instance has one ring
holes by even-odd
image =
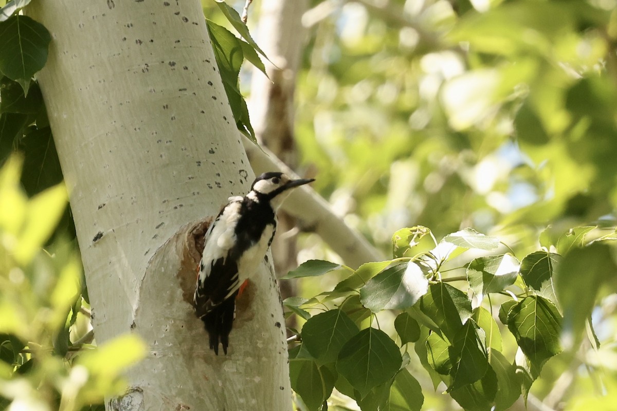
[[[512,285],[520,262],[510,254],[478,257],[467,267],[467,280],[479,302],[488,293],[498,293]]]

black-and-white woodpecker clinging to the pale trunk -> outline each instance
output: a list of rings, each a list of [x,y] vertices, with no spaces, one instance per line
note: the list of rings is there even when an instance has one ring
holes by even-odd
[[[257,271],[276,232],[276,210],[291,189],[315,179],[292,180],[283,173],[263,173],[244,197],[229,198],[205,233],[194,304],[205,325],[210,349],[219,343],[227,354],[236,296]]]

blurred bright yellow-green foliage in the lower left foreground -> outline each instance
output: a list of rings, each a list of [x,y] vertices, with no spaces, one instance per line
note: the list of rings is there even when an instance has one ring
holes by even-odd
[[[67,206],[63,184],[28,198],[23,158],[0,169],[0,409],[102,410],[123,393],[120,373],[144,355],[136,336],[94,350],[75,243],[54,232]]]

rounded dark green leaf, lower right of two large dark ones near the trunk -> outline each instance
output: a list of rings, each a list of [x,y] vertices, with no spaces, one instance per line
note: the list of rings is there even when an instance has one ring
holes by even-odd
[[[381,330],[366,328],[342,347],[336,370],[364,397],[399,370],[398,346]]]

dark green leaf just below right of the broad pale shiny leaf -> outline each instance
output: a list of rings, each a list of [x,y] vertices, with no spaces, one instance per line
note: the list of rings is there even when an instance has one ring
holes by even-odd
[[[420,299],[420,310],[452,341],[463,322],[471,317],[471,301],[463,291],[439,282],[431,284],[429,292]]]

